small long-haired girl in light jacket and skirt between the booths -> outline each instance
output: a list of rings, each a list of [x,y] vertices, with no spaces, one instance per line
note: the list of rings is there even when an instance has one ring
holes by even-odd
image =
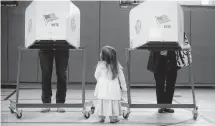
[[[119,122],[118,116],[122,115],[120,89],[127,91],[122,69],[116,50],[111,46],[104,46],[95,71],[97,84],[94,95],[98,98],[95,113],[99,122],[104,122],[106,116],[109,116],[111,123]]]

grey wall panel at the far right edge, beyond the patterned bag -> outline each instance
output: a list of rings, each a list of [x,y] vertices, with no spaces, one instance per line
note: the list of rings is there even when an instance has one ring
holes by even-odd
[[[191,42],[196,83],[215,83],[215,7],[193,8]]]

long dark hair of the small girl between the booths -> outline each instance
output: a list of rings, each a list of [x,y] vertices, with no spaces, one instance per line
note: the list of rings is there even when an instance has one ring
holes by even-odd
[[[104,46],[101,50],[101,60],[105,61],[106,67],[110,65],[110,69],[112,72],[112,79],[115,79],[118,75],[118,61],[116,50],[111,46]]]

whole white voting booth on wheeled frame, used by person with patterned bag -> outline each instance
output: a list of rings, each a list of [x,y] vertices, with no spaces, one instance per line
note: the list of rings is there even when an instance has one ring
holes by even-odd
[[[127,96],[128,108],[123,113],[124,118],[129,117],[130,108],[193,108],[193,119],[198,117],[194,83],[192,78],[191,58],[188,56],[189,83],[192,88],[193,104],[132,104],[130,95],[130,59],[131,52],[136,50],[162,51],[185,50],[187,42],[184,41],[184,14],[181,5],[172,1],[144,1],[132,8],[129,14],[130,47],[126,49],[127,62]],[[189,52],[189,51],[187,51]],[[187,55],[190,55],[187,53]]]

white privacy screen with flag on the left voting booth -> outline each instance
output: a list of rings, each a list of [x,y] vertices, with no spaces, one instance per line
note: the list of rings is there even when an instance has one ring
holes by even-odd
[[[33,1],[25,10],[25,47],[80,47],[80,10],[69,0]]]

